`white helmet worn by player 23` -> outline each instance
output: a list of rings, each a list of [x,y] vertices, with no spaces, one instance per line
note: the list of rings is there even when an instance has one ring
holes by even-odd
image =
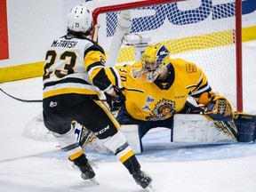
[[[78,4],[68,13],[68,29],[91,33],[93,27],[92,11],[85,4]],[[89,34],[88,34],[89,35]]]

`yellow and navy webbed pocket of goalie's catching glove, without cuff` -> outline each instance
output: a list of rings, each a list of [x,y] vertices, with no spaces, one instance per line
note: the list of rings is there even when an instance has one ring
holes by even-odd
[[[211,101],[204,111],[204,115],[212,120],[231,121],[233,119],[233,110],[229,101],[216,94],[212,94]]]

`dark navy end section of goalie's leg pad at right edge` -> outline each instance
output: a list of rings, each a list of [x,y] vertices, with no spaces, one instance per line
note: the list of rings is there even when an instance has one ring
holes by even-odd
[[[256,138],[256,116],[245,113],[235,114],[235,124],[238,130],[237,141],[253,142]]]

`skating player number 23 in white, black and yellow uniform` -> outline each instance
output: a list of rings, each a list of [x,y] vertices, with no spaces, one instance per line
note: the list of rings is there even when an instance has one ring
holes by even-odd
[[[120,105],[124,96],[111,84],[105,73],[105,53],[88,38],[92,34],[92,12],[85,4],[76,5],[68,13],[68,32],[52,41],[44,62],[44,125],[53,132],[69,160],[79,167],[84,180],[92,180],[95,172],[76,141],[70,124],[76,120],[115,153],[119,161],[142,187],[151,186],[151,178],[140,171],[140,164],[128,145],[120,124],[99,100],[100,91],[115,98]]]

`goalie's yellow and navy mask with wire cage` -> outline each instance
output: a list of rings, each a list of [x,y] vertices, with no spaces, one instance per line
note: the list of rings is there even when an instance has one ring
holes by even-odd
[[[170,63],[169,52],[163,44],[149,45],[141,57],[143,73],[148,82],[154,82]]]

